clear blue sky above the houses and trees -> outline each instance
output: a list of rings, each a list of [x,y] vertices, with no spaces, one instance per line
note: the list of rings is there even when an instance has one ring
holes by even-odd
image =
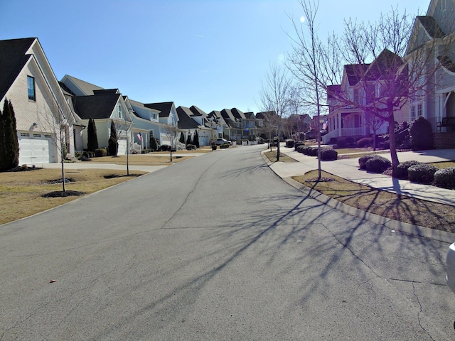
[[[426,13],[430,0],[321,0],[319,35],[343,19],[375,21],[398,6]],[[0,0],[0,40],[38,37],[64,75],[139,102],[260,111],[269,63],[291,50],[297,0]]]

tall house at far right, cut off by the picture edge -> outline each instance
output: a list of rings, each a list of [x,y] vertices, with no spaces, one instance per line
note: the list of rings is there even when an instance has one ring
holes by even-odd
[[[454,1],[432,0],[427,15],[414,21],[405,55],[412,61],[422,52],[432,54],[426,58],[429,72],[419,75],[424,86],[410,94],[410,120],[424,117],[430,121],[435,148],[455,148],[454,38]]]

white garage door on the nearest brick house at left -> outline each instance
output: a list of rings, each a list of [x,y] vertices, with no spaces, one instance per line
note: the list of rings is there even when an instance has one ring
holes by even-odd
[[[52,135],[19,133],[19,165],[57,162]]]

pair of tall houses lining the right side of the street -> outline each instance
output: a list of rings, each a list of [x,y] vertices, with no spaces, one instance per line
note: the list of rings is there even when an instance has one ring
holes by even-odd
[[[368,124],[368,91],[378,94],[381,89],[381,76],[386,75],[387,63],[390,60],[410,61],[416,53],[431,53],[424,60],[427,70],[435,70],[435,75],[424,74],[420,77],[422,88],[409,93],[405,105],[395,111],[395,121],[412,122],[424,117],[432,124],[435,148],[455,148],[455,3],[454,1],[432,0],[426,16],[417,16],[407,51],[404,56],[393,55],[384,50],[373,63],[345,65],[340,85],[328,87],[329,113],[324,123],[327,134],[322,137],[323,143],[336,141],[341,136],[368,136],[372,133]],[[428,48],[431,45],[433,48]],[[434,65],[439,65],[436,69]],[[368,79],[368,72],[375,70],[380,75]],[[359,77],[362,75],[362,77]],[[412,77],[412,75],[408,75]],[[431,79],[430,79],[431,78]],[[437,81],[435,81],[437,80]],[[361,83],[364,84],[361,84]],[[368,84],[365,84],[368,82]],[[339,97],[331,94],[342,94],[349,98],[353,105],[340,103]],[[355,105],[355,104],[360,105]],[[360,109],[363,108],[363,109]],[[377,133],[387,132],[387,122],[376,122]]]

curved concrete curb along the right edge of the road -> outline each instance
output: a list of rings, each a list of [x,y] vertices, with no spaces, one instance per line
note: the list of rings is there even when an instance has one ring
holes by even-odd
[[[267,166],[272,164],[271,161],[264,156],[264,152],[261,153],[264,162],[267,163]],[[276,173],[272,168],[269,167],[279,178],[282,178],[278,173]],[[336,210],[339,210],[347,215],[353,215],[354,217],[361,218],[362,220],[368,220],[369,222],[373,222],[374,224],[380,224],[388,229],[392,229],[398,232],[403,232],[406,234],[412,234],[419,237],[425,237],[429,239],[438,240],[439,242],[446,242],[446,243],[453,243],[455,240],[455,233],[439,231],[438,229],[429,229],[428,227],[423,227],[419,225],[409,224],[407,222],[400,222],[398,220],[392,220],[387,217],[382,217],[381,215],[375,215],[370,212],[365,212],[363,210],[359,210],[358,208],[343,204],[343,202],[339,202],[338,200],[332,199],[327,195],[324,195],[316,190],[311,190],[311,188],[306,187],[305,185],[299,183],[292,178],[282,178],[286,183],[291,185],[292,187],[300,190],[302,193],[312,197],[323,204],[328,205],[329,207],[333,207]]]

